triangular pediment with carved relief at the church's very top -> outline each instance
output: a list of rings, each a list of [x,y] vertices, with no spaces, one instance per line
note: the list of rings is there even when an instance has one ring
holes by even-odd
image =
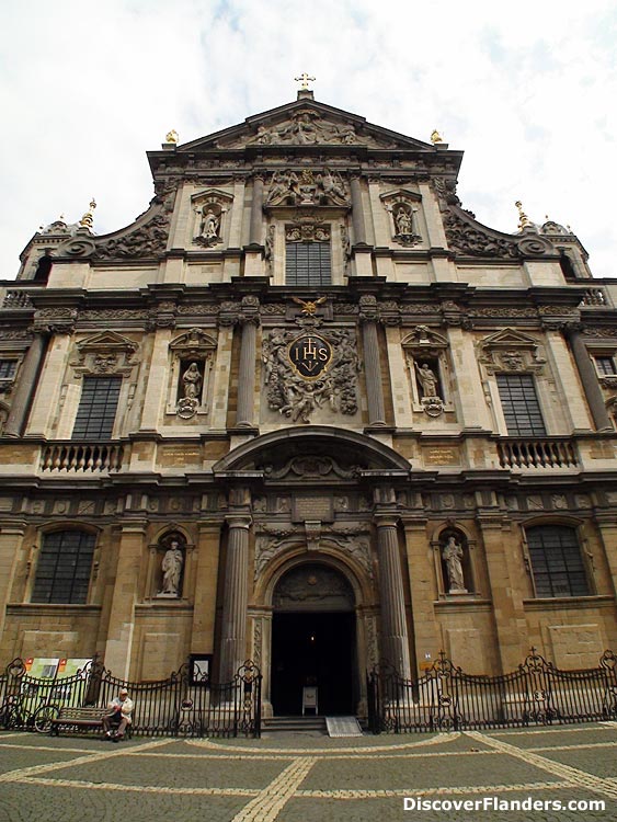
[[[179,152],[249,146],[358,146],[435,152],[430,142],[366,122],[357,114],[311,99],[300,99],[244,123],[178,147]]]

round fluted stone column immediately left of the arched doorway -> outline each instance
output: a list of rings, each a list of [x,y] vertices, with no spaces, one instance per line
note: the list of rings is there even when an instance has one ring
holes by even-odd
[[[249,528],[248,514],[229,514],[229,528],[225,589],[222,596],[222,620],[220,629],[220,664],[218,678],[231,682],[236,671],[244,662],[247,651],[247,605],[249,601]]]

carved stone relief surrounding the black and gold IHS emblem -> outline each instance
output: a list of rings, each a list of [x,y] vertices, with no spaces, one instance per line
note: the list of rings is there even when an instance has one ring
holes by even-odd
[[[357,412],[354,331],[274,329],[263,341],[262,359],[267,406],[292,422],[310,423],[322,408],[336,414]]]

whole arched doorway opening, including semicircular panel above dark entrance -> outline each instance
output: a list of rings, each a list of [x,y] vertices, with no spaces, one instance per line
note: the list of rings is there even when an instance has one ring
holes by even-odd
[[[273,595],[271,659],[275,716],[301,713],[305,686],[317,686],[319,713],[355,713],[355,597],[339,570],[307,562],[283,574]]]

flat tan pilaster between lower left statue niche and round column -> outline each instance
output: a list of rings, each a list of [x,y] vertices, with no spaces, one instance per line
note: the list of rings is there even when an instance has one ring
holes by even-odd
[[[193,631],[191,651],[212,653],[214,651],[214,628],[216,618],[216,579],[220,550],[220,523],[199,523],[199,538],[195,551],[195,607],[193,609]]]

